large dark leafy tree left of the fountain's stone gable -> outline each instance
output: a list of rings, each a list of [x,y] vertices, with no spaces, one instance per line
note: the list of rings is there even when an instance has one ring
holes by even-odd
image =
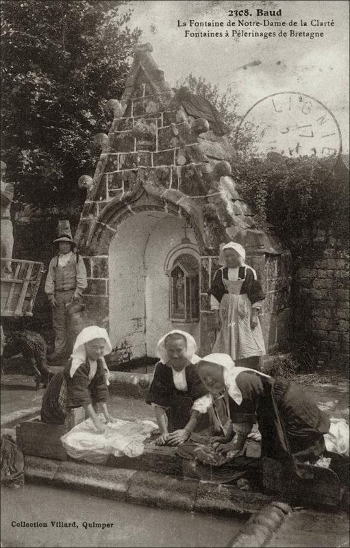
[[[140,31],[125,1],[1,3],[1,157],[16,201],[79,208],[92,175],[92,136],[106,131],[103,104],[121,97]]]

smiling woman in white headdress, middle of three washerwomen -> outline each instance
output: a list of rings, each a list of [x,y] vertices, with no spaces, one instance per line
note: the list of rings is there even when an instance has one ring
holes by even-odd
[[[206,409],[196,400],[207,390],[199,379],[195,364],[197,344],[188,333],[175,329],[164,335],[157,345],[160,361],[155,364],[147,403],[155,408],[160,429],[158,445],[179,445],[197,426]]]

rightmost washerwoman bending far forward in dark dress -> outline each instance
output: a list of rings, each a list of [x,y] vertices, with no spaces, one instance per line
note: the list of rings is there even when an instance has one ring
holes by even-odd
[[[218,451],[240,451],[255,414],[263,457],[284,460],[293,456],[299,462],[313,464],[325,451],[323,435],[329,432],[329,418],[301,386],[283,377],[273,379],[252,369],[235,367],[232,359],[221,353],[202,358],[198,372],[210,391],[217,423],[230,423],[225,436],[218,440]]]

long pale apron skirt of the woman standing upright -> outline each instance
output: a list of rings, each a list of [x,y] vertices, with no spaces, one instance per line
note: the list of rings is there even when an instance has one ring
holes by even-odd
[[[232,360],[264,356],[265,345],[260,321],[251,329],[251,301],[247,295],[225,293],[220,303],[221,330],[213,352],[229,354]]]

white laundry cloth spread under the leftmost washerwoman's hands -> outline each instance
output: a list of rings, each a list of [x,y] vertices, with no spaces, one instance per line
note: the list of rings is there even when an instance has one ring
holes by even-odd
[[[62,444],[70,457],[92,464],[104,464],[110,455],[138,457],[144,451],[144,441],[158,430],[153,421],[118,419],[116,423],[106,423],[102,414],[99,419],[105,424],[103,434],[97,434],[92,420],[87,419],[62,436]]]

